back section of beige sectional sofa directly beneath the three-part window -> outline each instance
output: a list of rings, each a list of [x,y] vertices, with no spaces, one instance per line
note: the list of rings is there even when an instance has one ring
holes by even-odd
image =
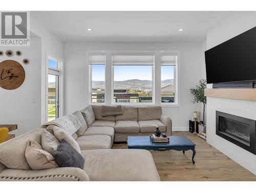
[[[81,110],[81,113],[86,117],[88,115],[88,106]],[[94,130],[104,127],[110,130],[114,129],[114,140],[126,141],[127,136],[136,135],[151,135],[156,130],[152,124],[158,124],[159,130],[166,135],[172,135],[172,120],[162,114],[161,106],[122,106],[122,114],[102,117],[101,106],[91,105],[93,115],[89,115],[89,129]],[[87,121],[88,122],[88,121]]]

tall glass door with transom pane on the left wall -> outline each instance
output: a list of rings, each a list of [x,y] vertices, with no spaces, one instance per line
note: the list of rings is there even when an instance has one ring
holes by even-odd
[[[60,63],[57,59],[48,57],[47,79],[47,120],[51,121],[59,117],[59,82]]]

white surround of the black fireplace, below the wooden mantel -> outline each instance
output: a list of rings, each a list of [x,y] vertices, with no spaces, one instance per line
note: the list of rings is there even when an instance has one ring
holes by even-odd
[[[256,101],[207,97],[207,143],[256,175],[256,155],[216,135],[216,111],[256,120]]]

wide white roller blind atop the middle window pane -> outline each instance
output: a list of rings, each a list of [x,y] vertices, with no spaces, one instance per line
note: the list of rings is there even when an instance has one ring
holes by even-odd
[[[154,65],[154,55],[112,55],[113,65]]]

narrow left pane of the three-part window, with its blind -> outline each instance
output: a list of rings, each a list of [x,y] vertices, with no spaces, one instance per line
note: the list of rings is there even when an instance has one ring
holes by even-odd
[[[90,102],[105,102],[105,55],[90,55]]]

